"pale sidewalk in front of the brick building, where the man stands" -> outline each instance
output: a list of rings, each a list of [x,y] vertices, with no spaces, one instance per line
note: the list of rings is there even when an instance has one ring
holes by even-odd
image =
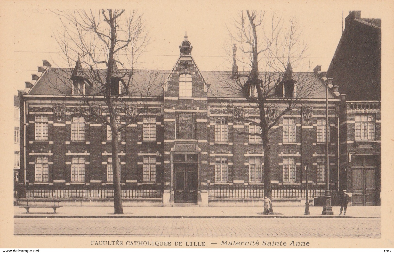
[[[263,207],[123,207],[124,214],[113,214],[113,207],[64,206],[53,213],[52,208],[26,209],[14,207],[15,218],[380,218],[380,206],[349,206],[346,216],[338,216],[340,207],[333,207],[334,215],[322,215],[323,207],[273,207],[275,215],[264,215]]]

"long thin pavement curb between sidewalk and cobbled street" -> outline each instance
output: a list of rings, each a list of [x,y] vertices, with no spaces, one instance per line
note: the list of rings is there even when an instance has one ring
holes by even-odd
[[[164,216],[144,216],[144,215],[14,215],[14,218],[167,218],[167,219],[190,219],[190,218],[212,218],[212,219],[223,219],[223,218],[372,218],[372,219],[380,219],[381,217],[356,217],[356,216],[284,216],[284,215],[264,215],[264,216],[256,216],[256,215],[242,215],[242,216],[223,216],[223,215],[214,215],[214,216],[191,216],[191,215],[164,215]]]

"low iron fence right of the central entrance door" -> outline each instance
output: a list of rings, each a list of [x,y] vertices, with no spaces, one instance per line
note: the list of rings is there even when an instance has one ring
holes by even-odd
[[[306,198],[305,185],[271,185],[272,198]],[[310,185],[309,198],[323,197],[325,185]],[[336,190],[330,190],[336,196]],[[264,185],[208,185],[209,198],[264,198]]]

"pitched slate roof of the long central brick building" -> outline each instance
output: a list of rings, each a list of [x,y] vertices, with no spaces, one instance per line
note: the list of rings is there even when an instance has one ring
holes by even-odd
[[[78,64],[77,64],[78,66]],[[84,73],[80,72],[80,68],[50,68],[47,70],[33,86],[32,90],[28,93],[29,95],[71,95],[72,75],[78,73],[78,75],[84,75],[88,78],[87,70]],[[125,70],[119,70],[117,73],[125,73]],[[170,70],[134,70],[132,79],[130,80],[130,94],[135,96],[162,96],[163,89],[160,83],[165,82],[167,76],[171,73]],[[206,83],[210,83],[210,89],[208,90],[208,97],[217,97],[220,94],[221,97],[243,97],[243,95],[234,90],[229,90],[229,87],[236,85],[235,81],[231,78],[231,71],[201,71]],[[101,78],[105,77],[105,70],[100,70],[99,75]],[[260,73],[261,79],[267,78],[265,72]],[[313,72],[292,72],[292,79],[302,83],[302,85],[318,84],[318,89],[314,94],[310,95],[310,98],[324,98],[325,97],[325,85],[323,81],[315,75]],[[282,79],[283,73],[277,73],[277,78]],[[128,81],[126,77],[123,78],[125,82]],[[302,80],[302,81],[300,81]],[[246,77],[243,81],[246,81]],[[99,92],[97,85],[92,83],[91,94]],[[149,84],[149,85],[147,85]],[[335,97],[331,92],[329,97]]]

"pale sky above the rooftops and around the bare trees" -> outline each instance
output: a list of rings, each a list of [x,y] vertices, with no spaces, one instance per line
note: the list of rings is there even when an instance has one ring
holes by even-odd
[[[265,2],[262,2],[265,3]],[[179,45],[184,39],[185,31],[193,46],[192,55],[200,70],[231,70],[226,61],[223,45],[228,39],[226,26],[232,22],[239,9],[195,4],[175,7],[162,5],[152,8],[139,8],[139,13],[149,28],[151,43],[141,56],[143,68],[169,70],[175,64],[179,55]],[[286,5],[285,5],[286,6]],[[241,5],[239,5],[242,8]],[[264,4],[261,5],[264,10]],[[357,9],[357,8],[351,8]],[[298,11],[289,8],[268,8],[268,11],[278,11],[284,19],[294,16],[303,31],[303,38],[309,44],[307,65],[312,70],[316,65],[322,65],[327,70],[335,53],[342,33],[342,11],[344,17],[349,8],[331,7],[327,11],[310,7]],[[379,18],[378,9],[361,10],[362,18]],[[24,88],[24,81],[31,79],[31,74],[37,72],[37,66],[42,60],[48,60],[52,66],[61,66],[59,51],[54,38],[58,17],[49,9],[26,6],[23,11],[13,15],[13,71],[15,73],[15,92]],[[310,64],[310,65],[309,65]],[[308,70],[301,70],[308,71]]]

